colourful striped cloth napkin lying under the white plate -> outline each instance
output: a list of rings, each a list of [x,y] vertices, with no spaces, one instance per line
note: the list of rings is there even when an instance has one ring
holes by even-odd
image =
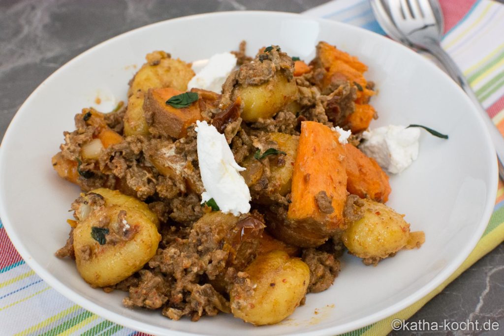
[[[490,0],[442,0],[447,28],[443,47],[463,70],[504,134],[504,6]],[[305,12],[385,34],[367,0],[337,0]],[[504,185],[478,245],[450,279],[403,311],[347,333],[386,334],[395,318],[407,319],[469,266],[504,240]],[[29,318],[26,318],[28,313]],[[0,325],[2,335],[145,335],[107,321],[61,296],[22,260],[0,222]]]

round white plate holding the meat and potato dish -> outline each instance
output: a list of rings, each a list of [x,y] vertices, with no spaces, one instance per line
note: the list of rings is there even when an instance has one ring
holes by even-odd
[[[253,327],[232,315],[172,321],[160,311],[125,309],[122,292],[89,287],[74,262],[54,251],[67,239],[68,209],[79,188],[57,177],[50,158],[74,129],[74,114],[96,95],[125,99],[128,81],[152,50],[186,61],[278,44],[310,59],[324,40],[357,55],[379,95],[372,127],[389,123],[430,126],[448,141],[423,133],[420,156],[391,178],[389,205],[423,230],[419,250],[403,251],[377,267],[345,255],[334,285],[309,294],[306,304],[277,325]],[[110,104],[113,105],[113,104]],[[446,280],[474,248],[490,217],[496,193],[493,146],[470,100],[444,73],[407,48],[345,24],[273,12],[230,12],[160,22],[112,38],[62,66],[26,100],[0,149],[0,214],[26,262],[56,290],[90,311],[153,334],[333,335],[385,318],[414,303]],[[319,310],[314,314],[315,309]]]

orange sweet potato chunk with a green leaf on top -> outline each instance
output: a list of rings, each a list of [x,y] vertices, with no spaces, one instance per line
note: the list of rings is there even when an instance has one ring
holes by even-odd
[[[202,119],[198,101],[183,108],[166,104],[168,99],[181,93],[173,88],[149,89],[147,92],[144,111],[152,115],[151,128],[157,133],[180,139],[185,137],[187,126]]]

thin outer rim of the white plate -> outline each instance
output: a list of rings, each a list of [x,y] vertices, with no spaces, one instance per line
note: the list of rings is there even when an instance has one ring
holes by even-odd
[[[469,99],[469,97],[467,97],[467,95],[462,91],[462,89],[459,86],[457,86],[457,84],[455,82],[453,82],[451,80],[451,78],[446,73],[444,73],[439,68],[437,68],[437,66],[434,63],[430,62],[429,60],[425,59],[424,57],[417,54],[413,50],[407,48],[406,46],[404,46],[396,41],[390,40],[380,34],[374,33],[372,31],[366,30],[361,27],[353,26],[350,24],[346,24],[346,23],[338,22],[338,21],[334,21],[334,20],[318,18],[318,17],[309,16],[309,15],[302,15],[299,13],[277,12],[277,11],[229,11],[229,12],[221,11],[221,12],[202,13],[202,14],[195,14],[195,15],[190,15],[190,16],[177,17],[177,18],[167,19],[167,20],[163,20],[163,21],[159,21],[159,22],[155,22],[155,23],[151,23],[151,24],[148,24],[145,26],[135,28],[133,30],[121,33],[121,34],[113,36],[103,42],[100,42],[100,43],[92,46],[91,48],[85,50],[84,52],[78,54],[74,58],[70,59],[65,64],[61,65],[57,70],[55,70],[51,75],[49,75],[39,86],[37,86],[37,88],[28,96],[28,98],[23,102],[23,104],[16,111],[16,114],[14,115],[13,119],[11,120],[11,122],[9,123],[9,126],[6,129],[2,143],[0,144],[0,162],[5,162],[5,160],[3,160],[4,156],[6,155],[5,147],[7,145],[5,145],[5,143],[8,143],[8,140],[11,138],[12,129],[14,128],[13,125],[17,124],[17,120],[19,119],[18,118],[19,112],[20,111],[22,112],[26,108],[26,106],[28,106],[30,104],[31,100],[37,94],[37,92],[39,91],[39,89],[41,87],[48,85],[48,83],[50,83],[53,80],[53,78],[55,78],[60,71],[64,71],[69,66],[69,64],[72,64],[72,63],[78,61],[81,57],[85,57],[88,53],[92,53],[94,50],[103,47],[103,45],[106,45],[107,43],[111,42],[112,40],[125,38],[126,35],[134,34],[137,31],[140,31],[143,29],[148,29],[152,26],[163,25],[166,22],[194,20],[194,19],[198,19],[201,17],[239,16],[239,15],[246,15],[246,16],[270,15],[270,16],[274,16],[274,17],[283,16],[284,18],[312,20],[317,23],[324,22],[324,23],[331,24],[334,26],[345,26],[347,29],[358,31],[359,34],[364,34],[364,35],[369,35],[369,36],[374,35],[375,37],[380,37],[380,38],[384,39],[384,42],[385,42],[385,40],[387,40],[388,42],[385,42],[385,43],[393,43],[396,45],[395,47],[400,47],[400,48],[406,49],[407,52],[411,55],[411,57],[416,57],[420,62],[423,62],[427,66],[431,66],[432,68],[435,68],[437,72],[442,73],[444,76],[446,76],[446,78],[452,83],[452,84],[448,84],[448,85],[455,86],[460,90],[460,92],[463,94],[463,96],[465,96],[465,98],[461,98],[461,99],[465,99],[467,105],[473,106],[473,108],[471,108],[471,110],[472,110],[472,113],[474,113],[477,116],[477,118],[476,118],[476,120],[478,120],[477,122],[480,124],[480,127],[482,129],[486,129],[485,125],[484,125],[484,121],[482,119],[482,116],[478,113],[478,111],[476,110],[476,107],[474,106],[472,101]],[[487,146],[485,146],[485,150],[487,152],[489,152],[489,154],[491,156],[492,153],[495,153],[495,149],[494,149],[493,143],[490,140],[490,136],[488,135],[488,132],[486,132],[486,131],[483,132],[483,138],[484,138],[483,141],[487,145]],[[6,139],[7,139],[7,141],[6,141]],[[4,165],[0,165],[0,180],[1,180],[2,176],[4,175],[4,168],[3,167],[4,167]],[[426,296],[430,292],[432,292],[439,285],[443,284],[443,282],[445,282],[452,274],[454,274],[454,272],[460,267],[460,265],[464,262],[464,260],[466,260],[466,258],[472,252],[472,250],[476,246],[477,242],[481,238],[484,230],[486,229],[488,221],[491,217],[491,214],[493,212],[493,203],[491,201],[491,196],[496,195],[497,181],[498,181],[496,161],[495,161],[494,165],[490,164],[490,170],[492,171],[492,173],[490,175],[494,177],[495,183],[491,184],[490,188],[486,191],[486,196],[489,199],[487,200],[484,211],[481,215],[480,221],[479,221],[477,228],[475,230],[476,231],[475,235],[473,235],[471,240],[464,246],[463,249],[461,249],[461,251],[459,252],[457,257],[455,257],[453,259],[453,261],[447,265],[445,270],[443,270],[442,272],[437,274],[425,286],[423,286],[420,289],[418,289],[417,291],[411,293],[403,300],[400,300],[400,301],[390,305],[386,309],[383,309],[381,311],[377,311],[375,313],[369,314],[369,315],[362,317],[362,318],[358,318],[358,319],[351,321],[351,322],[346,322],[346,323],[342,323],[342,324],[338,324],[335,326],[330,326],[330,327],[318,329],[318,330],[298,332],[295,334],[299,335],[299,336],[332,335],[335,333],[348,332],[348,331],[359,329],[361,327],[365,327],[367,325],[371,325],[371,324],[378,322],[384,318],[390,317],[393,314],[401,311],[402,309],[407,308],[408,306],[416,303],[418,300],[420,300],[421,298],[423,298],[424,296]],[[7,209],[4,205],[5,203],[2,201],[3,194],[4,194],[4,192],[0,189],[0,217],[2,218],[2,222],[3,222],[3,225],[6,230],[7,235],[9,236],[11,242],[13,243],[13,245],[16,248],[16,250],[18,251],[18,253],[25,260],[26,264],[30,268],[32,268],[32,270],[35,271],[35,273],[40,278],[42,278],[45,282],[47,282],[47,284],[49,286],[51,286],[51,288],[53,288],[54,290],[56,290],[57,292],[59,292],[60,294],[62,294],[66,298],[68,298],[69,300],[80,305],[81,307],[91,311],[92,313],[97,314],[98,316],[105,318],[105,319],[108,319],[114,323],[132,328],[134,330],[148,332],[151,334],[166,334],[167,332],[169,332],[169,334],[173,334],[173,335],[177,335],[177,336],[202,335],[201,333],[173,330],[173,329],[166,328],[166,327],[160,328],[157,326],[153,326],[153,325],[138,321],[134,318],[125,317],[125,316],[120,315],[116,312],[113,312],[113,311],[110,311],[106,308],[103,308],[103,307],[99,306],[98,304],[94,303],[93,301],[86,299],[85,297],[75,293],[72,289],[67,287],[66,284],[60,282],[57,278],[53,277],[49,272],[47,272],[45,270],[45,268],[42,265],[40,265],[38,262],[35,261],[35,259],[33,259],[31,257],[30,253],[26,250],[24,244],[22,243],[22,239],[20,239],[20,237],[18,237],[18,235],[16,234],[15,229],[14,229],[14,225],[11,223],[9,216],[7,215]]]

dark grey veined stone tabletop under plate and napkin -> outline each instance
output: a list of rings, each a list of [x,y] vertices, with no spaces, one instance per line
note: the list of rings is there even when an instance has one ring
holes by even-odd
[[[325,2],[0,0],[0,138],[19,106],[45,78],[82,51],[117,34],[197,13],[229,10],[302,12]],[[469,268],[410,321],[422,319],[428,322],[479,319],[481,323],[492,319],[500,323],[501,331],[481,334],[504,334],[504,245],[499,245]],[[417,334],[393,332],[394,335],[412,333]]]

